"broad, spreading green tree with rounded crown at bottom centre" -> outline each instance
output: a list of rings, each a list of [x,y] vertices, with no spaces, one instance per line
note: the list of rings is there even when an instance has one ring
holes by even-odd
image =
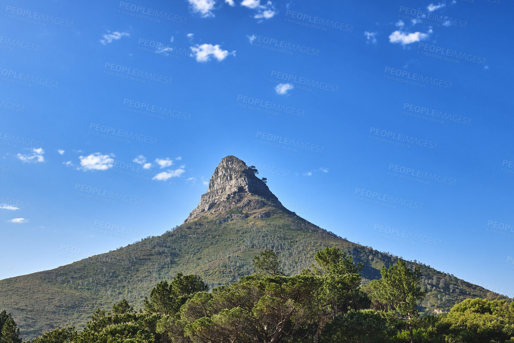
[[[193,343],[302,341],[317,328],[321,278],[252,275],[200,292],[180,309]]]

